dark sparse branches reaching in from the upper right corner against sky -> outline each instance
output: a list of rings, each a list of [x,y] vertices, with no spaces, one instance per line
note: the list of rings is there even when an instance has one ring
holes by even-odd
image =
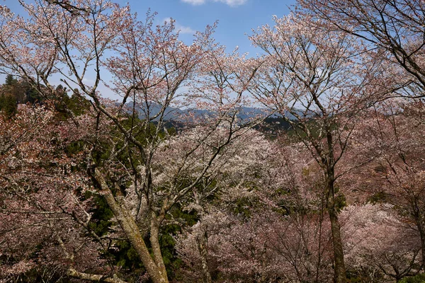
[[[298,2],[304,13],[324,19],[324,28],[341,30],[367,42],[371,58],[392,70],[387,78],[392,78],[387,80],[388,91],[412,98],[424,96],[424,1]]]

